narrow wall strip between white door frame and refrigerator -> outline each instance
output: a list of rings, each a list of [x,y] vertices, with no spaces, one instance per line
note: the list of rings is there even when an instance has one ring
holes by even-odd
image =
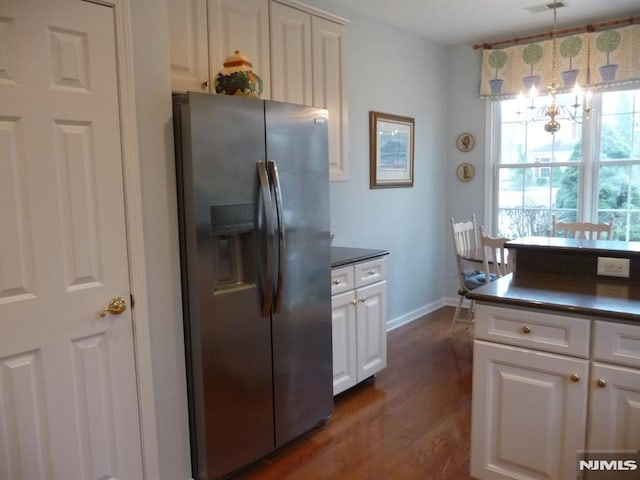
[[[182,335],[171,86],[170,0],[130,0],[156,414],[157,480],[191,478]],[[134,292],[135,293],[135,292]],[[153,479],[155,480],[155,479]]]

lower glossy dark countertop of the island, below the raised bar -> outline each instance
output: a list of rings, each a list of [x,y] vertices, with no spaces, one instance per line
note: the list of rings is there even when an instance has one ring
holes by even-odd
[[[567,274],[515,272],[468,298],[640,323],[640,282]]]

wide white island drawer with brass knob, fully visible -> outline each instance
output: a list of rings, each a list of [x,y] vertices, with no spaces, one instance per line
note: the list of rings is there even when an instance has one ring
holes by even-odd
[[[583,318],[479,304],[478,339],[587,358],[591,322]]]

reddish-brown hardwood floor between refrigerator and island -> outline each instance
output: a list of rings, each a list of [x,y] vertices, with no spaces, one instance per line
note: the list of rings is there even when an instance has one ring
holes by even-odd
[[[445,307],[388,334],[388,366],[237,479],[468,479],[472,337]]]

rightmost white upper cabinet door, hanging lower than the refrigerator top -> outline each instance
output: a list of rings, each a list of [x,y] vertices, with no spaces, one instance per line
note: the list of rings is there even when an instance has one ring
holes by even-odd
[[[345,28],[324,18],[311,20],[313,105],[329,111],[329,175],[347,180],[347,89]]]

